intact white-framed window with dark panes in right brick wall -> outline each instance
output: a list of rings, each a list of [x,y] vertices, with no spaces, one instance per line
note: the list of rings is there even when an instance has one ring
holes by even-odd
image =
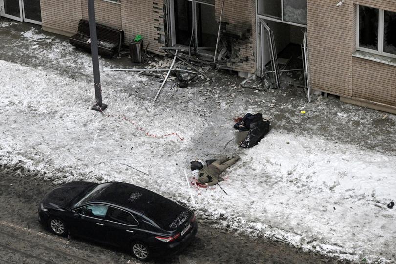
[[[357,49],[396,58],[396,13],[358,6]]]

